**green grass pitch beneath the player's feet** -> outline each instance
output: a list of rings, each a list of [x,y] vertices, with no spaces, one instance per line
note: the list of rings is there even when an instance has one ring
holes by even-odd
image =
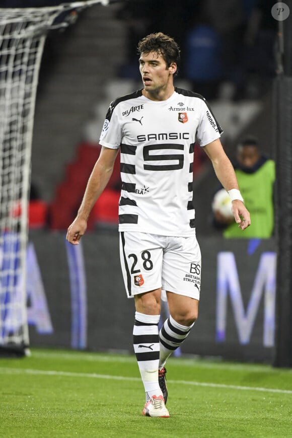
[[[33,349],[2,358],[0,436],[292,436],[292,370],[171,358],[167,371],[170,418],[149,418],[132,355]]]

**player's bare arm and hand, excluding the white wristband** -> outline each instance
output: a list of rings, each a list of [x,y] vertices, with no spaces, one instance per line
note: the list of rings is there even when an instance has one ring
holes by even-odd
[[[231,189],[238,189],[238,182],[234,168],[224,152],[220,139],[216,139],[211,143],[206,144],[204,151],[211,160],[215,174],[223,187],[227,191]],[[235,222],[242,230],[245,230],[250,226],[251,222],[249,211],[242,201],[239,199],[232,201],[232,210]]]

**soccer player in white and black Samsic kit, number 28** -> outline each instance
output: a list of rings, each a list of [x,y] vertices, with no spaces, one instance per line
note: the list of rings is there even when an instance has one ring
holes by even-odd
[[[163,33],[138,43],[143,89],[114,100],[100,137],[102,151],[66,239],[77,245],[89,213],[121,152],[120,258],[128,297],[134,297],[133,344],[146,401],[142,414],[169,417],[165,406],[167,358],[198,316],[201,254],[195,234],[192,168],[195,139],[229,192],[241,230],[250,215],[221,142],[222,129],[205,99],[174,87],[180,59]],[[161,290],[170,316],[160,332]]]

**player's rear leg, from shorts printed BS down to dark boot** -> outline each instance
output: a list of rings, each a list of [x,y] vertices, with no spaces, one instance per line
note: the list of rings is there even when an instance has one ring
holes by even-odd
[[[159,382],[167,400],[165,363],[184,342],[197,316],[200,294],[201,253],[195,236],[172,238],[164,254],[163,288],[167,290],[170,316],[160,333]]]

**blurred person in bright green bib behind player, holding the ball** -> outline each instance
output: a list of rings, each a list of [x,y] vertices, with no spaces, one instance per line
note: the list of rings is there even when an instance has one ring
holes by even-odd
[[[242,233],[234,218],[223,216],[218,209],[214,211],[214,227],[224,230],[226,238],[271,237],[274,229],[274,161],[261,154],[255,137],[248,136],[238,144],[234,168],[245,205],[250,211],[251,226]]]

